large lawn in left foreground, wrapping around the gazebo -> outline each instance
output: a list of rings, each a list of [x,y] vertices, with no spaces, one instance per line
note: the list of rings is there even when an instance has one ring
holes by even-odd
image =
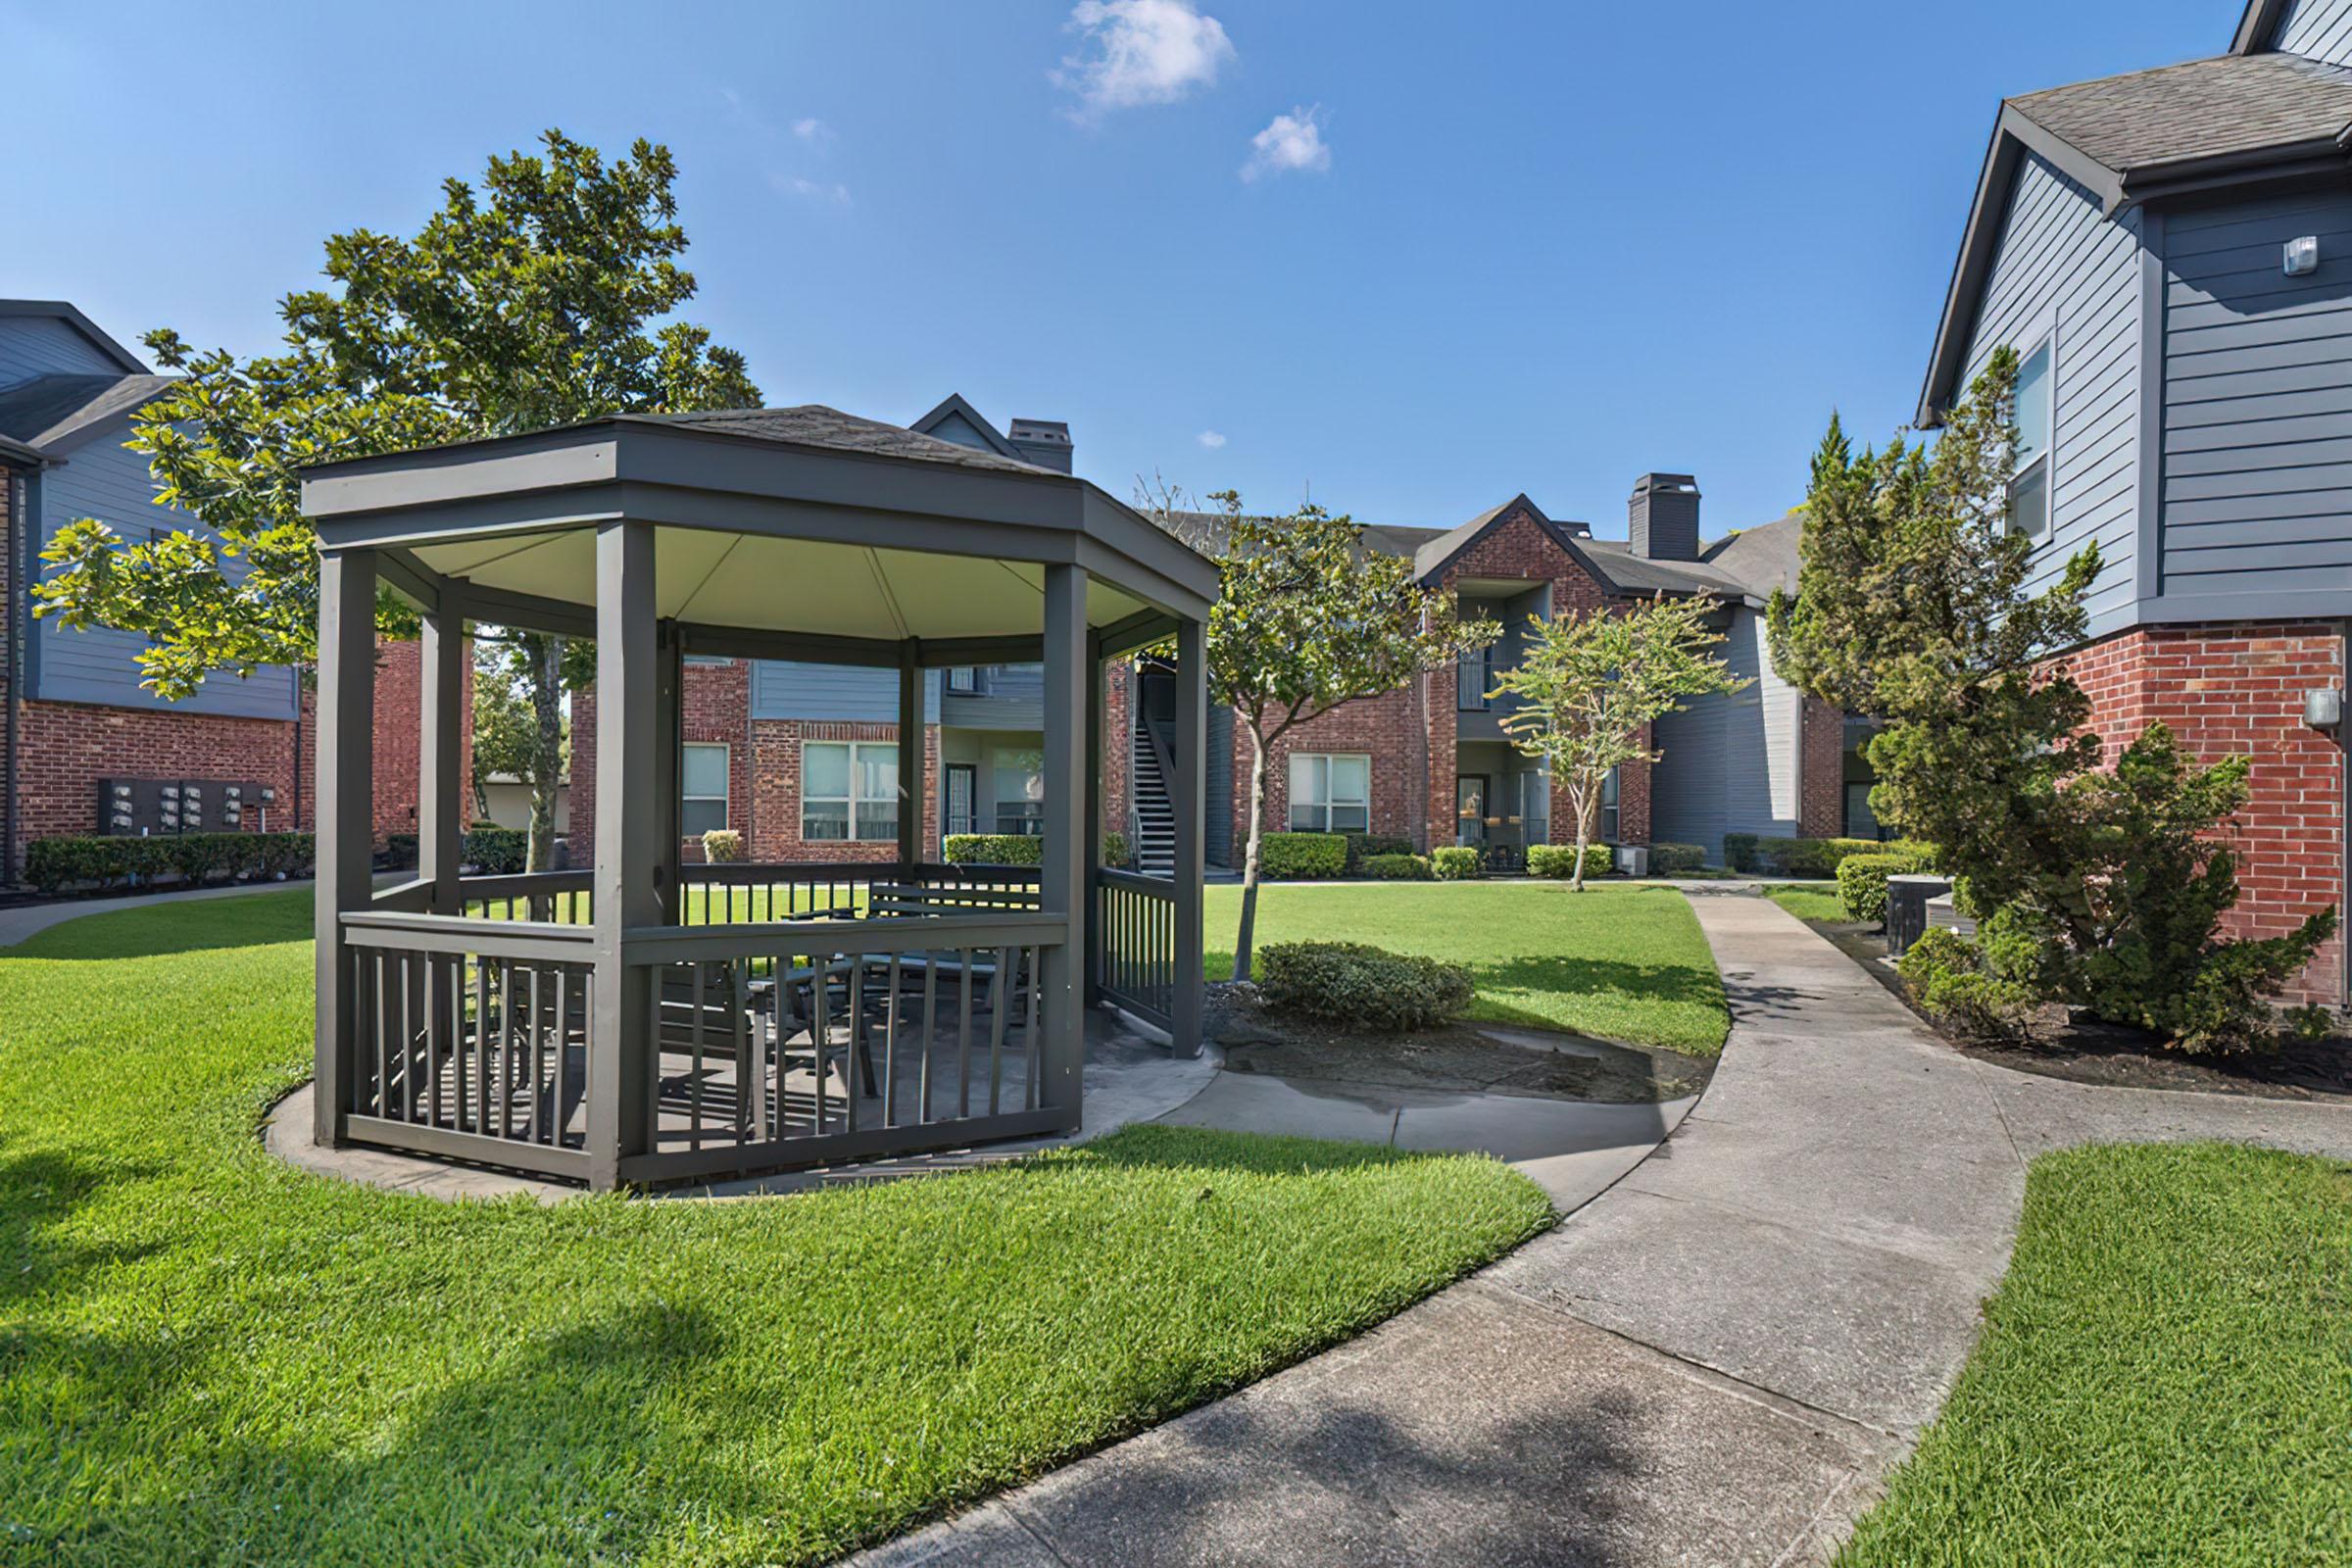
[[[1489,1159],[1134,1128],[793,1199],[280,1166],[308,893],[0,950],[0,1561],[804,1563],[1515,1246]]]

